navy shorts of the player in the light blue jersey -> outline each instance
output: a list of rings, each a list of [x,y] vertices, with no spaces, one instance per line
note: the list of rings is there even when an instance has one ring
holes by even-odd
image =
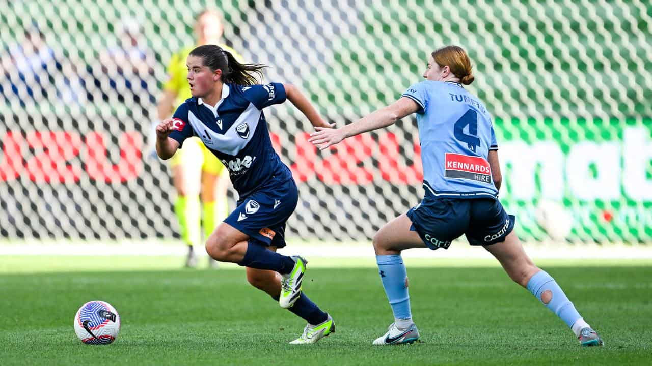
[[[407,215],[412,220],[410,230],[433,250],[448,249],[462,234],[472,246],[503,242],[514,230],[516,220],[497,199],[437,198],[428,194]]]

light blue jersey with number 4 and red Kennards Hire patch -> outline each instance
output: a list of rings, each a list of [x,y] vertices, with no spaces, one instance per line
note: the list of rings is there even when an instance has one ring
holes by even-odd
[[[437,197],[496,198],[487,159],[498,144],[482,102],[451,81],[422,81],[403,96],[419,105],[425,189]]]

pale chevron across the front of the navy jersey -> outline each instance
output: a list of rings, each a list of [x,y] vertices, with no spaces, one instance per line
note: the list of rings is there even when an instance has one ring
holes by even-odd
[[[190,122],[192,129],[199,135],[206,147],[225,154],[237,155],[254,136],[254,131],[258,127],[262,113],[260,109],[250,103],[224,134],[218,134],[205,126],[191,111],[188,111],[188,122]],[[243,134],[239,134],[237,131],[237,128],[242,126],[243,122],[249,128],[249,133],[244,137]]]

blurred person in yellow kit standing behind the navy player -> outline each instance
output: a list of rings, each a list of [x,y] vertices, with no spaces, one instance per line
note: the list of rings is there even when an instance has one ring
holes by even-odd
[[[164,84],[163,95],[158,102],[158,119],[169,118],[174,109],[190,98],[188,68],[186,58],[196,46],[216,44],[229,51],[237,59],[242,59],[236,51],[222,44],[224,33],[222,12],[213,9],[203,10],[195,23],[197,44],[174,53],[168,63],[168,81]],[[174,204],[179,219],[181,238],[188,245],[186,267],[196,267],[196,246],[201,246],[202,228],[204,240],[213,232],[215,226],[228,215],[226,192],[229,186],[228,171],[198,137],[192,137],[170,160],[172,180],[177,190]],[[201,204],[200,204],[201,198]],[[209,257],[210,260],[210,257]],[[209,266],[217,262],[210,260]]]

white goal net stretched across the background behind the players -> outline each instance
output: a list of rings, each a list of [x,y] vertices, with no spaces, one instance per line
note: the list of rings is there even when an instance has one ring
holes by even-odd
[[[520,237],[652,240],[649,1],[0,3],[0,237],[178,237],[150,124],[166,63],[210,5],[227,44],[338,126],[420,81],[430,51],[464,47]],[[288,236],[368,240],[422,197],[413,118],[318,152],[291,107],[266,113],[299,184]]]

